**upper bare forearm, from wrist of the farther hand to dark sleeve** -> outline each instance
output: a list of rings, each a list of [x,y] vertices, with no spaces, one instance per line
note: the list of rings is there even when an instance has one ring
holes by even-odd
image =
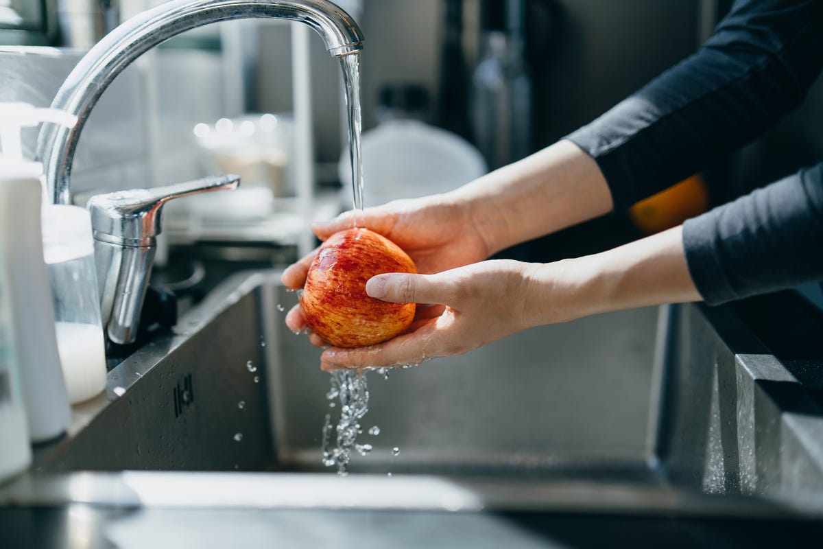
[[[561,141],[449,193],[468,203],[473,225],[494,254],[611,212],[611,193],[593,161]]]

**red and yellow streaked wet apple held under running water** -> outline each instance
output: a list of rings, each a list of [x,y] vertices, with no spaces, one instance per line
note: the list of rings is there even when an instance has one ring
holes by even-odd
[[[407,330],[414,303],[388,303],[365,293],[384,272],[417,272],[397,244],[364,228],[341,230],[323,242],[309,267],[300,305],[314,333],[335,347],[365,347]]]

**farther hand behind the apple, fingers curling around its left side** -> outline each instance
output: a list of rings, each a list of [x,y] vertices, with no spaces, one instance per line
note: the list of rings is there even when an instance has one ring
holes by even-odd
[[[469,204],[450,194],[395,200],[383,206],[365,208],[360,221],[366,228],[398,244],[409,254],[421,274],[463,267],[491,254],[489,244],[472,220]],[[320,240],[326,240],[337,231],[352,226],[353,213],[345,212],[331,221],[314,224],[312,230]],[[315,255],[316,249],[286,268],[281,277],[283,284],[295,290],[302,288]],[[300,305],[295,305],[286,315],[286,325],[293,331],[306,328]],[[325,344],[316,334],[310,339],[315,345]]]

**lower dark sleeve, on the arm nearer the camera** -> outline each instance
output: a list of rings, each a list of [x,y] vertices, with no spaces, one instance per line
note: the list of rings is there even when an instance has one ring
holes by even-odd
[[[709,305],[823,279],[823,164],[686,221],[683,245]]]

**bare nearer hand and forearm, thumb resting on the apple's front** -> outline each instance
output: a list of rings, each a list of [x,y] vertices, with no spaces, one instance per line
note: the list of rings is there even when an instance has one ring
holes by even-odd
[[[381,300],[437,304],[413,331],[372,347],[328,349],[324,370],[418,364],[511,333],[644,305],[700,300],[675,227],[601,254],[556,263],[498,260],[432,275],[386,274],[366,285]]]

